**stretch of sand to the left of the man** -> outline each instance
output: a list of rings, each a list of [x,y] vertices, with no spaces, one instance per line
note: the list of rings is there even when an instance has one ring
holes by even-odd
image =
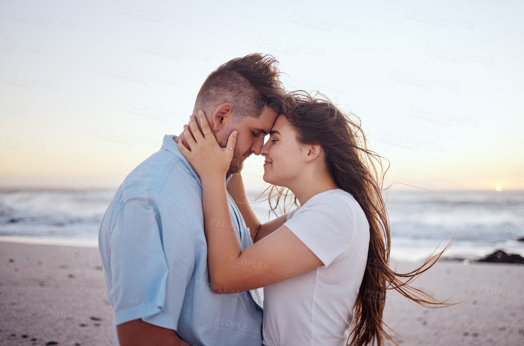
[[[0,263],[0,344],[115,344],[97,247],[0,242]]]

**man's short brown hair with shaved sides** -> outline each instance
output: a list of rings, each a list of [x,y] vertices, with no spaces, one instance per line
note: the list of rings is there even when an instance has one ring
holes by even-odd
[[[265,107],[281,113],[285,91],[279,80],[278,61],[270,55],[253,53],[230,60],[211,72],[202,84],[193,109],[209,111],[231,104],[233,121],[259,117]]]

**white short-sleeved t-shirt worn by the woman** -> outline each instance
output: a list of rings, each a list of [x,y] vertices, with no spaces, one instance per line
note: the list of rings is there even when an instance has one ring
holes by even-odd
[[[369,247],[369,224],[353,196],[315,194],[283,224],[323,265],[264,287],[266,346],[345,345]]]

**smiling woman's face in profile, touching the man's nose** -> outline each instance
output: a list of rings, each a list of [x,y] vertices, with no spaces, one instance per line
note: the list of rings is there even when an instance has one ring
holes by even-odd
[[[279,115],[269,132],[269,139],[260,149],[265,157],[264,181],[289,187],[305,165],[302,149],[286,117]]]

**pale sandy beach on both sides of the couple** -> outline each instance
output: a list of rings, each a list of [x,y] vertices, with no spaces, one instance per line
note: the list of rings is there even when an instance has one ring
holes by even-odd
[[[98,248],[0,241],[0,263],[0,344],[114,344]],[[384,319],[399,344],[524,344],[524,265],[439,261],[414,286],[469,300],[425,309],[388,295]]]

